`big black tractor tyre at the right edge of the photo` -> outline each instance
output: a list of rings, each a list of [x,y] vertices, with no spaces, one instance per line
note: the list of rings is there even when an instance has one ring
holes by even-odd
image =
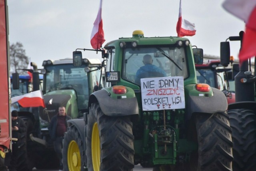
[[[256,168],[256,115],[248,109],[228,111],[232,128],[233,171],[252,171]]]

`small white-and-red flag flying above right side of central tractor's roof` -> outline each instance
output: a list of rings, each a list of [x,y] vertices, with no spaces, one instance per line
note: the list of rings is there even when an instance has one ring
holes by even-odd
[[[176,31],[178,33],[178,37],[183,36],[194,36],[196,34],[195,24],[189,22],[182,18],[182,10],[181,10],[181,0],[180,0],[180,8],[179,8],[179,19],[176,25]]]

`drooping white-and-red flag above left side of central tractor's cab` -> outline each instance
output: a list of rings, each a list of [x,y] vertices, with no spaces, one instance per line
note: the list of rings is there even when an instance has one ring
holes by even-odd
[[[101,11],[102,11],[102,0],[100,0],[99,11],[97,14],[97,18],[94,21],[94,26],[92,28],[92,34],[91,34],[91,45],[92,45],[92,48],[94,49],[100,49],[102,44],[105,42]]]

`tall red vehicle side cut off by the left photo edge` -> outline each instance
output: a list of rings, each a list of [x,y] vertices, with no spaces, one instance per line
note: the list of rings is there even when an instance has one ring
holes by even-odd
[[[12,149],[11,116],[10,116],[10,79],[9,79],[9,41],[7,2],[0,0],[0,167],[3,167],[5,153]],[[2,168],[0,168],[2,169]],[[3,170],[3,169],[2,169]]]

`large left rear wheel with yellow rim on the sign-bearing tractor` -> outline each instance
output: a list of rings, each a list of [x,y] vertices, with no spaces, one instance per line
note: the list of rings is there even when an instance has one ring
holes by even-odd
[[[131,171],[134,168],[134,136],[129,116],[107,116],[98,103],[93,103],[86,130],[89,171]]]

